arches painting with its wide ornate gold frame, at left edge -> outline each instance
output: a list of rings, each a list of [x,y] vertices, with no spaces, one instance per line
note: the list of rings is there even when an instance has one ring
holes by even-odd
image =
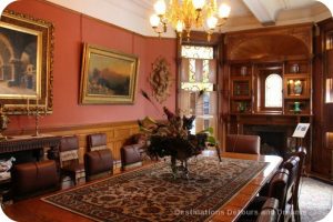
[[[52,112],[53,24],[3,12],[0,20],[0,103],[7,114]]]

